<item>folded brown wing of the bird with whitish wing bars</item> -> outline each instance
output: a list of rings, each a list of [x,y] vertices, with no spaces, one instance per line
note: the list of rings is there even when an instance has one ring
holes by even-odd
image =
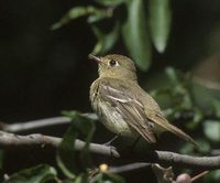
[[[100,82],[99,97],[114,107],[128,125],[138,131],[146,141],[155,143],[156,138],[151,122],[147,120],[144,106],[138,96],[138,94],[131,90],[130,85],[127,86],[123,82]]]

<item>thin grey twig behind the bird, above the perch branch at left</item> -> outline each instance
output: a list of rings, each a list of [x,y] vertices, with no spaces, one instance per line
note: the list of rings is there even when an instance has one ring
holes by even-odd
[[[97,115],[95,114],[82,114],[81,116],[89,118],[91,120],[98,119]],[[45,118],[45,119],[40,119],[40,120],[31,120],[26,122],[16,122],[16,123],[11,123],[11,125],[0,122],[0,129],[2,131],[8,131],[8,132],[23,132],[23,131],[29,131],[29,130],[38,129],[38,128],[65,125],[69,122],[70,122],[70,118],[68,117],[53,117],[53,118]]]

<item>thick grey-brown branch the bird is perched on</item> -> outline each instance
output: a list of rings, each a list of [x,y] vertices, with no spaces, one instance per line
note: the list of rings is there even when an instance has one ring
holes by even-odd
[[[9,132],[0,131],[0,148],[12,149],[14,148],[57,148],[62,138],[43,136],[43,134],[29,134],[16,136]],[[81,150],[85,142],[81,140],[75,141],[75,149]],[[220,169],[220,155],[218,157],[191,157],[184,155],[168,151],[151,151],[144,154],[135,154],[128,149],[116,149],[103,144],[90,143],[89,150],[92,153],[102,154],[111,158],[120,158],[130,160],[132,162],[147,162],[147,163],[162,163],[166,165],[179,165],[185,168],[198,168],[201,170]]]

